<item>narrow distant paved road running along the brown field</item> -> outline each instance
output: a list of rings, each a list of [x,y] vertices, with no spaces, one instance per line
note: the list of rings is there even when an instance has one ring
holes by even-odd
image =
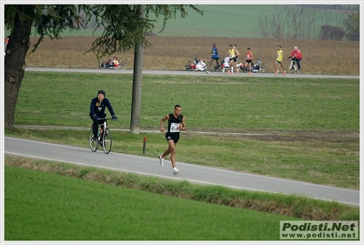
[[[43,67],[26,67],[25,71],[45,71],[45,72],[79,72],[79,73],[107,73],[107,74],[133,74],[133,70],[118,69],[71,69],[71,68],[43,68]],[[227,74],[222,72],[211,72],[209,75],[199,71],[165,71],[165,70],[143,70],[146,75],[173,75],[173,76],[224,76]],[[250,77],[248,73],[240,72],[234,74],[233,77]],[[282,74],[274,73],[253,73],[251,77],[283,77]],[[287,74],[285,77],[300,78],[347,78],[359,79],[359,76],[341,76],[341,75],[311,75],[311,74]]]

